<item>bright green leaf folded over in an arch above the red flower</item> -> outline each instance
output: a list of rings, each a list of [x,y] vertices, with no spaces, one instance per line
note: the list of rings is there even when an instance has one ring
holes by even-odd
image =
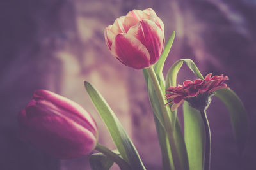
[[[186,65],[191,69],[191,71],[200,79],[204,80],[204,77],[200,73],[198,67],[196,67],[195,63],[191,59],[180,59],[177,62],[175,62],[169,69],[167,75],[166,75],[166,84],[165,87],[168,89],[168,87],[176,86],[176,79],[177,74],[179,73],[180,67],[182,66],[183,62],[186,63]]]

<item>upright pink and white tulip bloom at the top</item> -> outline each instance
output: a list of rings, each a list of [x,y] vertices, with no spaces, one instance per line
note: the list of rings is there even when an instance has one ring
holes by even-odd
[[[104,34],[112,55],[134,69],[151,66],[163,52],[164,24],[151,8],[129,11]]]

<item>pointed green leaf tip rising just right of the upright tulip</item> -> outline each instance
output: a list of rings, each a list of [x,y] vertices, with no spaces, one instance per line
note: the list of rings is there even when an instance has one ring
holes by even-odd
[[[168,41],[164,47],[163,53],[159,57],[159,60],[157,61],[157,63],[154,65],[154,70],[155,70],[156,74],[162,73],[163,67],[164,67],[164,62],[170,52],[170,49],[172,48],[172,43],[173,43],[174,38],[175,38],[175,31],[172,32],[172,35],[170,36],[170,38],[168,39]]]

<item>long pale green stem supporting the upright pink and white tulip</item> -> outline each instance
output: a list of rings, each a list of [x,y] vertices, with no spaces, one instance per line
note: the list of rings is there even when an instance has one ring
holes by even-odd
[[[180,162],[180,159],[179,159],[180,155],[178,153],[176,143],[175,143],[175,138],[173,136],[172,125],[171,125],[171,122],[170,122],[170,117],[168,115],[168,110],[165,106],[165,99],[164,99],[163,92],[161,90],[161,87],[159,85],[159,81],[157,80],[157,76],[156,76],[156,73],[155,73],[153,67],[147,68],[147,71],[148,71],[148,74],[149,74],[149,76],[152,80],[152,83],[154,85],[154,89],[155,89],[156,94],[157,94],[157,99],[159,101],[159,105],[160,105],[161,111],[163,113],[164,128],[166,130],[166,134],[167,134],[167,137],[168,137],[169,142],[170,142],[170,148],[171,148],[171,151],[172,151],[172,158],[173,158],[173,163],[174,163],[175,169],[181,170],[181,169],[183,169],[182,168],[182,162]]]

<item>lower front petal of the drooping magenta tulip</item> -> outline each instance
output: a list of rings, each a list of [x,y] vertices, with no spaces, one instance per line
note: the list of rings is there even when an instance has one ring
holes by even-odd
[[[70,119],[44,115],[24,122],[22,136],[44,152],[60,159],[88,155],[97,139],[88,129]]]

